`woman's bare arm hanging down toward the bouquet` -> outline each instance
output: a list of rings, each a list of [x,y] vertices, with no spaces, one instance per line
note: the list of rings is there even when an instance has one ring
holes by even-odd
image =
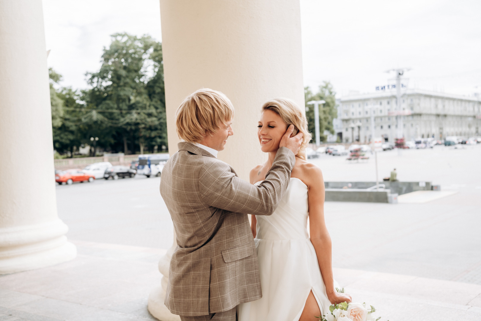
[[[316,250],[317,261],[326,293],[331,303],[351,301],[351,296],[336,292],[332,276],[332,243],[324,220],[324,179],[322,171],[314,164],[303,164],[302,176],[308,186],[309,224],[311,243]],[[303,180],[304,181],[304,180]]]

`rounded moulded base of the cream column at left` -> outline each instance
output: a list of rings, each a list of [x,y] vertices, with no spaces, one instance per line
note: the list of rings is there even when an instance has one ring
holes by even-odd
[[[77,255],[67,241],[67,226],[60,220],[0,229],[0,274],[44,268]]]

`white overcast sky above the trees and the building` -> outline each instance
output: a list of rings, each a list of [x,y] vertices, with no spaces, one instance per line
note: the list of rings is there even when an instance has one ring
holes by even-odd
[[[43,11],[48,64],[64,86],[87,87],[113,33],[162,40],[159,0],[43,0]],[[409,67],[411,88],[481,92],[480,14],[479,0],[301,0],[304,85],[373,92],[392,82],[386,70]]]

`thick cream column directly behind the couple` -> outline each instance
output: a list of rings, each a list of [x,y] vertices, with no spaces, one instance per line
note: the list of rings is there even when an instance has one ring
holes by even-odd
[[[184,97],[200,88],[220,90],[235,116],[234,135],[219,158],[248,180],[251,168],[267,159],[257,141],[262,104],[286,97],[305,112],[299,1],[160,0],[160,12],[170,153],[177,151],[175,111]],[[178,320],[163,312],[165,292],[158,291],[150,295],[149,311],[162,321]]]

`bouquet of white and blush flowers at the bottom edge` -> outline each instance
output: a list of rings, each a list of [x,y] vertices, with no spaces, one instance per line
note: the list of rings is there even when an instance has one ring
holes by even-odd
[[[341,290],[336,288],[336,291],[344,293],[344,288]],[[331,305],[330,313],[316,318],[321,321],[379,321],[381,317],[376,318],[373,314],[376,309],[373,306],[369,307],[367,308],[366,303],[342,302]]]

